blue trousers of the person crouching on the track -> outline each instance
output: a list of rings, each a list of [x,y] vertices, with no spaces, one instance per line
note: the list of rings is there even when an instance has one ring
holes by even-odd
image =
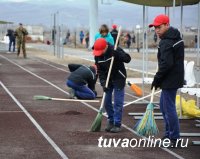
[[[78,85],[70,80],[67,80],[66,85],[75,91],[75,96],[79,99],[95,99],[94,92],[86,85]]]

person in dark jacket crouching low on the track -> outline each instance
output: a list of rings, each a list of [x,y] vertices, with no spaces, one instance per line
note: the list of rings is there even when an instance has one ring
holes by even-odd
[[[96,66],[69,64],[71,74],[66,85],[70,87],[70,98],[95,99],[95,84],[97,81]]]

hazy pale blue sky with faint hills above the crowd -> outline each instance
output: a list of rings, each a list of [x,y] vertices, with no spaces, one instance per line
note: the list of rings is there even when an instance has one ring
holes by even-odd
[[[101,2],[109,1],[111,5]],[[51,26],[53,14],[59,12],[58,23],[68,27],[89,27],[89,2],[90,0],[0,0],[0,20],[11,21],[16,24]],[[98,15],[99,25],[113,23],[122,25],[126,29],[133,29],[142,25],[142,6],[117,0],[99,0]],[[198,5],[184,7],[184,26],[197,27]],[[149,7],[148,23],[153,18],[164,13],[164,8]],[[172,10],[171,10],[172,13]],[[195,15],[195,16],[194,16]],[[180,26],[180,7],[175,11],[176,27]]]

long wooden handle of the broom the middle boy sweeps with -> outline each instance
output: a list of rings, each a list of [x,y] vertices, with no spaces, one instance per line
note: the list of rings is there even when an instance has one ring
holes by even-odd
[[[117,34],[117,39],[115,41],[114,50],[117,49],[117,44],[118,44],[118,41],[119,41],[120,33],[121,33],[121,26],[119,27],[119,30],[118,30],[118,34]],[[108,83],[109,83],[109,79],[110,79],[110,74],[111,74],[113,62],[114,62],[114,56],[112,56],[112,58],[111,58],[110,67],[109,67],[109,71],[108,71],[108,76],[107,76],[107,79],[106,79],[106,85],[105,85],[106,88],[108,87]],[[105,97],[106,97],[106,92],[103,92],[103,98],[102,98],[100,110],[103,109]]]

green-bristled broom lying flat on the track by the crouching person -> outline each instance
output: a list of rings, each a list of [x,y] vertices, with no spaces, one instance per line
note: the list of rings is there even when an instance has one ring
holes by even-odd
[[[52,98],[48,96],[35,95],[35,100],[59,100],[59,101],[70,101],[70,102],[99,102],[99,100],[81,100],[81,99],[67,99],[67,98]]]

